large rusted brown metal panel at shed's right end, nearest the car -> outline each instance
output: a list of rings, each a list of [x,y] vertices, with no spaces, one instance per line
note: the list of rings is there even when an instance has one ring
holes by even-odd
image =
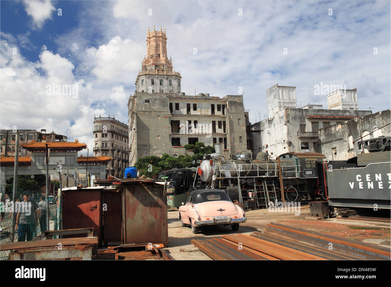
[[[125,244],[161,242],[168,245],[167,200],[163,185],[123,183]]]

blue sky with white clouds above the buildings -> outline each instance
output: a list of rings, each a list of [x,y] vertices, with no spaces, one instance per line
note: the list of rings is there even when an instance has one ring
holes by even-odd
[[[361,110],[390,108],[389,1],[1,1],[0,24],[2,129],[46,128],[92,147],[94,114],[127,123],[154,25],[182,91],[242,87],[251,122],[277,83],[296,86],[299,106],[327,108],[314,95],[323,82],[357,87]],[[48,95],[53,82],[78,85],[77,98]]]

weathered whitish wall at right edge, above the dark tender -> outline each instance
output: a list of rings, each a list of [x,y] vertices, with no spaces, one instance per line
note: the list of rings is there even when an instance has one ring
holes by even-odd
[[[386,110],[321,128],[316,151],[326,155],[326,160],[348,160],[356,157],[357,153],[368,153],[364,146],[360,150],[357,147],[357,142],[361,141],[360,137],[362,141],[381,136],[389,137],[390,117],[391,110]]]

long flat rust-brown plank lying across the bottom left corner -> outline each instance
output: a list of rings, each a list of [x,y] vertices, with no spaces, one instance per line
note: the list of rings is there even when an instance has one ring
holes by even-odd
[[[38,247],[50,247],[58,246],[61,243],[62,246],[72,246],[76,244],[98,244],[98,237],[76,237],[76,238],[63,238],[63,239],[47,239],[39,241],[24,241],[24,242],[9,242],[1,244],[1,250],[13,250],[13,249],[26,249],[26,248],[38,248]]]

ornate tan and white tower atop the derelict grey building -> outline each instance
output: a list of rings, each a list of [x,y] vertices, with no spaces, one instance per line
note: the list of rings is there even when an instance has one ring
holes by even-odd
[[[164,32],[147,31],[147,56],[144,56],[141,70],[136,78],[136,91],[144,93],[180,93],[181,74],[172,68],[167,57],[167,37]]]

